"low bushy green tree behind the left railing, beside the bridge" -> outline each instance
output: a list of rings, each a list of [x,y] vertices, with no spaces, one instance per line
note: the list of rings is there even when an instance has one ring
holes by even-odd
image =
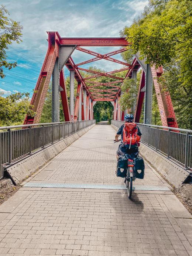
[[[0,95],[0,126],[22,124],[25,115],[35,116],[31,110],[29,93],[14,93],[6,98]]]

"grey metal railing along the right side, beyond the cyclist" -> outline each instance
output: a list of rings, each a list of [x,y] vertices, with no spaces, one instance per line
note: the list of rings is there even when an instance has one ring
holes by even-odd
[[[124,121],[112,120],[114,126],[120,127]],[[192,130],[137,123],[141,130],[141,141],[192,169]],[[179,131],[179,132],[175,132]]]

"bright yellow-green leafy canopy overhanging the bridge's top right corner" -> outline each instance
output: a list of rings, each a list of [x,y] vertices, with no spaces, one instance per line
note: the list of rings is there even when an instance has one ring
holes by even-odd
[[[150,0],[144,13],[124,28],[131,49],[140,51],[146,63],[178,63],[178,80],[186,87],[192,84],[191,16],[191,0]]]

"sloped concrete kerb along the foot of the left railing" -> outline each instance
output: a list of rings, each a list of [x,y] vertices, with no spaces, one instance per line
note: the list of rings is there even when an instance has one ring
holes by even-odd
[[[86,127],[85,129],[80,130],[79,132],[74,133],[65,139],[58,140],[54,144],[51,144],[48,147],[25,157],[23,160],[19,160],[10,166],[7,166],[6,171],[13,183],[15,185],[20,184],[20,182],[26,177],[34,173],[51,158],[55,157],[58,153],[79,139],[79,137],[88,132],[88,130],[90,130],[93,126],[95,126],[95,124],[92,124],[91,126]]]

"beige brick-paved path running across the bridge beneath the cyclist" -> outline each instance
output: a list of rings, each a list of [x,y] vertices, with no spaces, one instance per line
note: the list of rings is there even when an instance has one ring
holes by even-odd
[[[151,167],[132,200],[116,189],[114,134],[96,125],[0,206],[1,256],[192,255],[192,216]]]

